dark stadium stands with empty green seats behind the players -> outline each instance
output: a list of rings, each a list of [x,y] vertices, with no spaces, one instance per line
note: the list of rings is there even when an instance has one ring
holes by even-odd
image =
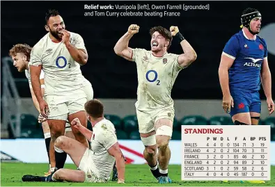
[[[36,44],[45,35],[45,12],[54,8],[61,13],[68,31],[79,33],[88,50],[88,63],[81,70],[91,81],[95,98],[102,99],[105,113],[116,124],[118,138],[139,140],[134,110],[136,101],[137,74],[135,63],[116,56],[113,47],[118,39],[127,31],[130,24],[141,26],[139,33],[129,42],[130,47],[150,49],[150,35],[152,26],[178,26],[180,32],[190,42],[198,54],[197,60],[187,69],[180,72],[172,90],[175,99],[175,125],[173,141],[180,140],[180,126],[182,124],[232,124],[228,115],[221,108],[221,88],[219,86],[218,68],[221,51],[230,37],[239,31],[242,10],[247,7],[257,8],[262,13],[262,33],[267,38],[274,38],[274,8],[269,1],[184,1],[185,5],[210,4],[210,10],[180,10],[180,17],[84,17],[84,4],[100,5],[154,3],[165,5],[164,2],[96,2],[96,1],[1,1],[1,96],[3,96],[3,58],[8,56],[8,50],[13,44]],[[170,2],[178,5],[181,1]],[[272,32],[265,31],[272,28]],[[266,29],[267,30],[267,29]],[[265,31],[265,32],[264,32]],[[261,33],[261,34],[262,34]],[[261,35],[260,34],[260,35]],[[265,38],[265,37],[264,37]],[[275,45],[274,40],[267,40],[269,47],[269,67],[274,74]],[[171,53],[180,54],[179,44],[172,42]],[[5,60],[6,62],[6,60]],[[24,73],[19,73],[8,63],[10,72],[19,93],[22,112],[20,122],[21,133],[17,138],[43,138],[42,128],[36,117],[38,112],[31,101],[28,81]],[[272,76],[272,83],[274,83]],[[275,92],[275,87],[272,87]],[[265,95],[260,90],[262,99],[261,124],[272,126],[272,140],[275,140],[274,114],[267,115]],[[17,108],[18,109],[18,108]],[[13,111],[11,111],[13,113]],[[3,97],[1,97],[1,115]],[[115,115],[115,116],[113,116]],[[13,117],[11,117],[13,118]],[[3,117],[1,118],[3,120]],[[2,121],[1,120],[1,121]],[[15,119],[8,120],[13,125]],[[1,126],[1,138],[15,138],[10,125]],[[41,139],[42,140],[42,139]],[[25,143],[33,143],[24,139]],[[142,147],[141,147],[142,149]],[[46,154],[45,154],[46,156]],[[46,158],[47,160],[47,158]]]

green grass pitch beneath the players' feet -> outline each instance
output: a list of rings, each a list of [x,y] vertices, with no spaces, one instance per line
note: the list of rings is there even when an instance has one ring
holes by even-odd
[[[43,175],[49,166],[45,163],[1,163],[1,186],[275,186],[275,166],[271,168],[271,180],[265,184],[241,184],[239,181],[181,181],[180,165],[169,166],[169,177],[172,184],[158,184],[148,168],[148,165],[126,165],[125,183],[116,184],[109,181],[106,184],[88,183],[45,183],[22,182],[24,174]],[[65,168],[76,169],[72,164],[66,164]]]

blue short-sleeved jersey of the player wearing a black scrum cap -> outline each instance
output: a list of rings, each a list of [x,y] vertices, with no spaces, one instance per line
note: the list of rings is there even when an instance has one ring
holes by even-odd
[[[256,40],[249,40],[241,30],[228,40],[223,54],[234,59],[228,71],[230,90],[260,90],[260,70],[267,58],[264,39],[256,35]]]

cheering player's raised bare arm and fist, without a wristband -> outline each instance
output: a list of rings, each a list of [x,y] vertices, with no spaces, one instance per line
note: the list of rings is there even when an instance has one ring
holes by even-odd
[[[133,49],[128,47],[128,45],[129,40],[135,33],[139,33],[139,26],[132,24],[129,26],[127,33],[125,33],[125,35],[123,35],[118,42],[116,42],[116,46],[113,50],[118,56],[121,56],[126,60],[132,60]]]

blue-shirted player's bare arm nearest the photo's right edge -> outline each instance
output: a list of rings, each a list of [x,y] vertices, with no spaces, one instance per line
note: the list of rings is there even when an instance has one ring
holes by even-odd
[[[265,92],[267,99],[272,99],[272,75],[269,70],[267,58],[264,58],[262,62],[262,71],[260,74],[262,80],[262,88]]]

